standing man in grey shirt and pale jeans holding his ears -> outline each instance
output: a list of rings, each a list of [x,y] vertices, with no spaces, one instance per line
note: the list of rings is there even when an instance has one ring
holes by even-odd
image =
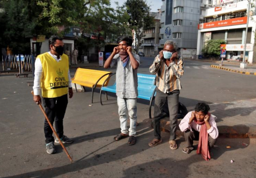
[[[104,68],[116,65],[116,95],[118,101],[118,114],[120,119],[121,133],[114,137],[118,141],[130,136],[128,145],[136,143],[137,123],[137,97],[138,78],[137,69],[140,66],[140,57],[132,53],[132,38],[120,36],[118,47],[107,58]],[[127,128],[126,110],[130,116],[130,128]]]

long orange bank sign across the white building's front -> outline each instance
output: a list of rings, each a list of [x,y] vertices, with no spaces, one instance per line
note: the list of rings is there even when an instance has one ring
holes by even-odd
[[[246,22],[247,22],[247,17],[238,17],[238,18],[228,19],[228,20],[223,20],[223,21],[202,23],[202,24],[198,25],[198,29],[241,25],[241,24],[246,24]]]

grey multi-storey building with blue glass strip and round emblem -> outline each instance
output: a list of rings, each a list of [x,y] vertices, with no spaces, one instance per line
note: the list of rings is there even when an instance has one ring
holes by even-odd
[[[173,40],[178,44],[179,55],[192,57],[197,48],[197,27],[211,0],[162,0],[160,48],[165,41]]]

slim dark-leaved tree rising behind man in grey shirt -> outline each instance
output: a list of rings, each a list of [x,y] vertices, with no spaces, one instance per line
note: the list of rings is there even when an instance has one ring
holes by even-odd
[[[127,14],[130,16],[129,27],[135,31],[135,47],[138,53],[139,43],[144,36],[144,30],[154,25],[154,17],[150,16],[150,7],[145,0],[127,0],[124,4]]]

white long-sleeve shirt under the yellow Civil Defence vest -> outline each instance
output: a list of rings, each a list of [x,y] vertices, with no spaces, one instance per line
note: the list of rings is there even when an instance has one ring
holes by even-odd
[[[61,60],[61,56],[58,59],[56,55],[51,54],[50,52],[48,52],[57,62],[59,62]],[[35,61],[35,79],[34,79],[34,86],[33,86],[33,91],[34,91],[34,95],[40,95],[41,92],[41,81],[43,78],[43,67],[42,67],[42,62],[41,60],[37,57],[36,61]],[[71,77],[70,77],[70,73],[68,70],[68,87],[71,88]]]

